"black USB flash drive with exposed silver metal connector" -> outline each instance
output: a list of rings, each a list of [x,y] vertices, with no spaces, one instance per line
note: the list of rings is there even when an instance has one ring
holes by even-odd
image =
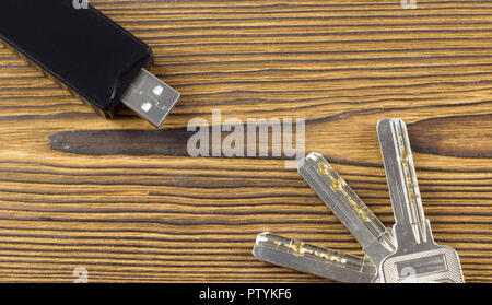
[[[122,102],[161,126],[179,93],[145,70],[150,47],[80,2],[2,0],[0,38],[106,117]]]

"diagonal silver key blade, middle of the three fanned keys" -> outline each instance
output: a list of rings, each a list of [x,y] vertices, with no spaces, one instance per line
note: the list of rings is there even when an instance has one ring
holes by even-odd
[[[298,162],[297,168],[319,198],[361,243],[364,253],[376,266],[395,251],[395,239],[388,228],[321,154],[308,154]]]

